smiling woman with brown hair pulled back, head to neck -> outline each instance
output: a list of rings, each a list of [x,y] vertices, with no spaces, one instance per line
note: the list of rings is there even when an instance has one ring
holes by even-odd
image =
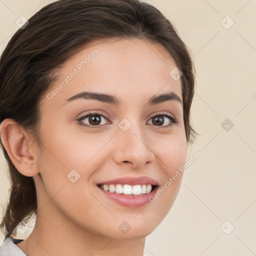
[[[143,255],[196,134],[194,68],[173,25],[138,0],[59,0],[13,35],[0,81],[0,255]]]

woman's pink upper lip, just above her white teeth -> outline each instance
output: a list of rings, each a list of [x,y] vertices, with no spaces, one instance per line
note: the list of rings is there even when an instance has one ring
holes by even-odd
[[[106,181],[102,181],[97,184],[129,184],[129,185],[138,185],[138,184],[151,184],[151,185],[158,185],[157,181],[149,178],[147,176],[140,176],[140,177],[119,177],[114,178]]]

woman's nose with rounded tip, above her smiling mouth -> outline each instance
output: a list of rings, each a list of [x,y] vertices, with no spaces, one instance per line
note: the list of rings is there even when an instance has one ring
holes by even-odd
[[[113,160],[118,165],[131,165],[138,169],[154,161],[155,155],[148,145],[149,140],[140,127],[131,125],[126,131],[117,129]]]

